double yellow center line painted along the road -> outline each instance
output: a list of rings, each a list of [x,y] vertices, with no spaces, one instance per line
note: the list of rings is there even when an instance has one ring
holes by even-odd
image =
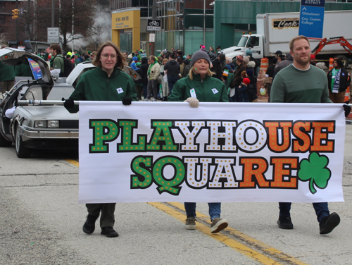
[[[80,165],[79,162],[76,160],[73,160],[73,159],[65,159],[65,160],[77,167]],[[181,214],[179,211],[176,211],[171,207],[168,207],[165,204],[162,204],[161,202],[148,202],[148,204],[150,204],[153,207],[156,207],[161,211],[164,211],[166,214],[169,214],[170,216],[176,218],[179,221],[184,222],[185,219],[187,218],[187,216],[185,216],[184,214]],[[177,209],[180,209],[181,211],[184,211],[184,205],[181,204],[180,202],[168,202],[168,204],[172,205]],[[209,224],[211,223],[208,216],[201,214],[199,211],[197,211],[196,214],[197,214],[197,218],[201,219],[206,223],[209,223]],[[227,237],[226,235],[222,235],[221,233],[217,233],[217,234],[210,233],[210,228],[208,226],[203,225],[203,223],[198,223],[196,226],[196,229],[200,230],[205,235],[208,235],[209,237],[214,238],[219,242],[222,242],[222,244],[227,245],[228,247],[231,247],[237,252],[244,254],[246,257],[249,257],[250,259],[260,262],[261,264],[280,265],[280,263],[275,261],[274,259],[270,259],[269,257],[266,257],[264,254],[260,254],[256,250],[246,247],[245,245],[241,244],[240,242],[237,242],[236,240],[233,240],[232,238]],[[244,242],[249,243],[249,245],[258,247],[259,249],[262,249],[263,252],[268,253],[274,257],[277,257],[277,259],[289,261],[291,262],[291,264],[307,265],[303,263],[303,261],[300,261],[294,257],[289,256],[288,254],[280,252],[278,249],[275,249],[274,247],[270,247],[269,245],[266,245],[265,243],[259,240],[256,240],[255,238],[251,238],[249,235],[241,233],[239,230],[227,227],[225,231],[229,232],[232,235],[235,235],[240,240],[243,240]]]

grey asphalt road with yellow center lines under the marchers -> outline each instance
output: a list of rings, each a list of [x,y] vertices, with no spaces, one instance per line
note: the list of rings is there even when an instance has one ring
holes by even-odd
[[[18,159],[14,147],[1,148],[0,264],[351,264],[350,124],[345,142],[346,202],[329,204],[341,223],[325,236],[311,204],[293,204],[294,230],[277,228],[273,202],[222,204],[230,227],[218,235],[206,223],[207,204],[197,204],[197,230],[184,229],[180,204],[117,204],[118,238],[100,235],[99,228],[85,235],[77,154],[37,152]]]

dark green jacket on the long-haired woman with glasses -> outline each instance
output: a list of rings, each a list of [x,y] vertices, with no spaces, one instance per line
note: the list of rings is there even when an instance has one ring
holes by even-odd
[[[104,70],[97,67],[82,74],[70,99],[122,101],[125,97],[132,97],[133,101],[138,101],[136,88],[130,75],[115,68],[108,77]],[[70,113],[76,113],[78,110],[77,105],[73,109],[68,109]]]

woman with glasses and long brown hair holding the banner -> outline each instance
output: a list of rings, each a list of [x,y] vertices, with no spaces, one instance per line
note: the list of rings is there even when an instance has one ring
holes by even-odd
[[[96,68],[83,73],[77,83],[75,91],[64,103],[70,113],[78,111],[74,100],[91,101],[122,101],[130,105],[132,100],[138,101],[134,82],[127,73],[122,72],[126,64],[125,57],[113,42],[104,43],[92,62]],[[86,204],[88,216],[84,223],[83,232],[92,234],[95,221],[100,218],[101,235],[115,238],[118,233],[113,229],[115,223],[115,203]]]

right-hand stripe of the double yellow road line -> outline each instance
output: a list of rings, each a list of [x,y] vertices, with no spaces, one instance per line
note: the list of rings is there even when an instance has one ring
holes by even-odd
[[[177,209],[180,209],[181,211],[184,211],[184,204],[181,204],[180,202],[167,202],[167,203]],[[196,215],[197,215],[197,218],[201,219],[202,221],[209,223],[209,224],[211,223],[209,216],[201,214],[199,211],[196,212]],[[230,226],[228,226],[224,231],[227,231],[230,234],[235,235],[236,238],[239,238],[240,240],[243,240],[244,242],[249,243],[249,245],[253,245],[255,247],[258,247],[258,249],[262,249],[263,252],[266,252],[274,257],[277,257],[278,259],[282,259],[284,261],[289,261],[292,264],[307,265],[303,261],[300,261],[299,259],[291,257],[288,254],[281,252],[278,249],[275,249],[274,247],[270,247],[269,245],[266,245],[264,242],[256,240],[255,238],[251,238],[251,236],[246,235],[245,233],[242,233],[239,230],[231,228]]]

